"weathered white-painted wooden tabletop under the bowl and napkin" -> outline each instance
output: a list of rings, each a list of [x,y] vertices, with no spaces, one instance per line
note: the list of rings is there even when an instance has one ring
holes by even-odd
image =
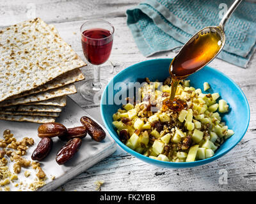
[[[252,1],[252,0],[251,0]],[[254,0],[255,1],[255,0]],[[37,0],[0,1],[0,29],[22,20],[40,17],[56,25],[61,37],[83,59],[79,27],[85,20],[102,18],[115,26],[113,50],[102,67],[107,80],[136,62],[147,59],[174,57],[164,52],[143,57],[126,25],[125,11],[140,3],[138,0]],[[112,65],[113,64],[113,65]],[[247,69],[214,59],[209,66],[232,78],[244,91],[251,110],[250,126],[243,140],[227,155],[210,164],[190,169],[164,169],[144,163],[118,147],[116,152],[56,191],[95,191],[95,182],[104,181],[102,191],[255,191],[256,190],[256,54]],[[92,78],[92,68],[83,69]],[[83,83],[77,83],[77,87]],[[99,107],[92,107],[79,93],[72,98],[93,117],[100,119]],[[89,107],[88,107],[89,105]],[[241,121],[243,122],[243,121]],[[221,182],[221,172],[227,172],[227,184]],[[219,182],[220,181],[220,182]],[[225,182],[224,182],[225,183]]]

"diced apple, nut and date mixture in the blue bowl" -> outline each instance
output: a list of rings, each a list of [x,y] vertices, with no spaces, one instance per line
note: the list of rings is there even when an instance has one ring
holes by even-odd
[[[204,90],[209,88],[205,82]],[[175,99],[186,101],[186,108],[163,110],[170,91],[170,79],[163,85],[148,82],[139,89],[140,103],[127,99],[129,103],[113,114],[120,140],[132,150],[161,161],[191,162],[214,156],[224,140],[234,135],[221,122],[220,113],[228,112],[227,102],[218,99],[219,93],[203,93],[183,80]]]

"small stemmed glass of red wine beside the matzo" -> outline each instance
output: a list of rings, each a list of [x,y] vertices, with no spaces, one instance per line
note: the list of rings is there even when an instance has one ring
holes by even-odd
[[[84,57],[93,66],[94,78],[80,87],[84,99],[99,105],[104,87],[108,81],[100,78],[100,64],[106,62],[111,53],[115,29],[106,20],[88,20],[81,25],[81,42]]]

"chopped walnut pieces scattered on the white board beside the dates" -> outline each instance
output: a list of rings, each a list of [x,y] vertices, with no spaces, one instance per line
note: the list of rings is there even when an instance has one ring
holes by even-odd
[[[10,184],[11,181],[13,182],[14,180],[19,179],[18,175],[22,167],[29,168],[30,166],[36,170],[35,182],[27,184],[26,182],[20,181],[19,183],[14,183],[13,186],[19,187],[19,189],[16,189],[17,191],[22,191],[22,189],[30,189],[31,191],[35,191],[36,189],[44,186],[47,177],[40,167],[40,163],[35,161],[31,162],[28,159],[24,159],[22,157],[26,155],[26,150],[29,148],[29,146],[34,144],[33,138],[26,137],[22,138],[20,141],[17,141],[17,139],[11,133],[10,129],[6,129],[4,131],[3,138],[4,139],[0,139],[0,186],[4,186],[4,188],[2,189],[0,187],[0,191],[10,191],[10,186],[8,186],[8,184]],[[6,150],[6,148],[8,150]],[[9,158],[10,162],[13,163],[14,173],[12,173],[7,166],[7,158]],[[25,177],[29,177],[30,174],[31,172],[28,170],[24,172]]]

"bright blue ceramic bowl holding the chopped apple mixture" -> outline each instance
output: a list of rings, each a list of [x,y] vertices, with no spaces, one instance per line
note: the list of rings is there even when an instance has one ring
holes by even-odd
[[[109,134],[113,137],[116,143],[122,147],[122,149],[147,163],[155,164],[163,168],[191,168],[194,166],[210,163],[211,161],[220,158],[224,154],[227,154],[228,151],[230,151],[237,145],[237,143],[239,143],[239,141],[246,133],[250,121],[250,108],[243,91],[241,91],[235,82],[233,82],[220,71],[206,66],[204,69],[201,69],[188,78],[190,80],[190,85],[196,89],[200,88],[204,90],[204,82],[209,82],[211,89],[209,89],[207,92],[219,92],[221,98],[225,99],[230,106],[230,111],[221,116],[222,120],[226,122],[228,128],[233,129],[235,134],[228,138],[220,146],[220,148],[216,150],[214,156],[208,159],[189,163],[173,163],[151,159],[149,157],[143,156],[142,154],[139,154],[138,152],[135,152],[119,140],[115,128],[112,125],[112,115],[113,113],[116,113],[118,108],[120,108],[122,105],[104,105],[104,102],[107,101],[108,103],[109,100],[113,100],[113,96],[115,96],[115,93],[118,92],[118,90],[114,90],[112,96],[109,94],[109,90],[113,90],[113,88],[110,87],[111,84],[113,84],[115,87],[115,84],[118,82],[125,82],[125,84],[128,84],[128,82],[143,82],[145,77],[148,77],[152,82],[157,79],[159,82],[163,82],[163,80],[169,76],[168,68],[171,61],[172,59],[154,59],[144,61],[129,66],[129,68],[126,68],[118,73],[111,80],[111,82],[109,82],[108,87],[106,87],[103,93],[102,101],[100,104],[102,120],[104,121]],[[234,154],[236,154],[236,152],[234,152]]]

